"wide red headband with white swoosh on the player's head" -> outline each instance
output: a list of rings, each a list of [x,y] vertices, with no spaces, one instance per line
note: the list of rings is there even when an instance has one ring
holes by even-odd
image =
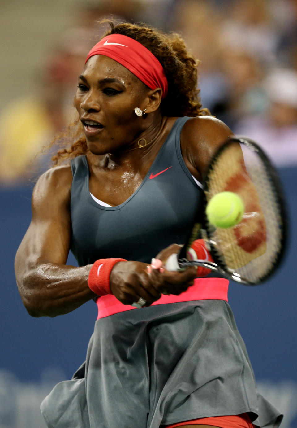
[[[166,97],[168,82],[164,69],[156,56],[141,43],[122,34],[111,34],[103,37],[91,49],[85,62],[98,54],[108,56],[124,65],[150,89],[161,88],[162,98]]]

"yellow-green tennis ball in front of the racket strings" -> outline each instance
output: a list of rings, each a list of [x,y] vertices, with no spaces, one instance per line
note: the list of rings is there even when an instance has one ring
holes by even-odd
[[[235,226],[242,219],[244,204],[233,192],[217,193],[206,206],[206,215],[215,227],[226,229]]]

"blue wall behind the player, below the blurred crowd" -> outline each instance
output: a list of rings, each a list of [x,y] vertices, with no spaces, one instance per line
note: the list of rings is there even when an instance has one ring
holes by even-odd
[[[297,427],[297,170],[282,169],[280,174],[291,219],[285,261],[275,276],[263,285],[247,287],[232,282],[229,303],[247,345],[259,389],[265,390],[271,401],[286,411],[283,426]],[[50,387],[51,382],[70,378],[85,359],[97,315],[93,302],[57,318],[32,318],[27,314],[15,283],[14,257],[29,226],[31,193],[30,184],[13,190],[0,190],[1,428],[27,426],[24,419],[22,423],[16,421],[16,416],[13,416],[15,409],[9,410],[5,405],[10,382],[16,391],[42,382]],[[75,264],[72,256],[68,264]],[[40,400],[46,393],[46,388],[39,389]],[[18,399],[15,406],[20,405]],[[28,404],[23,403],[24,406],[28,407]],[[29,426],[33,428],[32,422],[28,422]]]

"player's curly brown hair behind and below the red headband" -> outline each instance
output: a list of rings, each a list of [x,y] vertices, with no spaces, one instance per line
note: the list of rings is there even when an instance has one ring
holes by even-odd
[[[162,116],[195,117],[210,115],[208,109],[202,108],[199,96],[200,89],[197,89],[197,65],[199,61],[188,51],[179,34],[165,34],[144,24],[115,23],[111,20],[100,21],[100,23],[106,22],[110,25],[110,30],[102,38],[111,34],[131,37],[151,51],[162,64],[168,80],[168,95],[160,105]],[[88,152],[79,120],[68,128],[68,133],[63,136],[62,140],[57,137],[54,143],[57,140],[59,140],[60,149],[52,157],[54,165],[62,163],[65,159],[75,158]]]

